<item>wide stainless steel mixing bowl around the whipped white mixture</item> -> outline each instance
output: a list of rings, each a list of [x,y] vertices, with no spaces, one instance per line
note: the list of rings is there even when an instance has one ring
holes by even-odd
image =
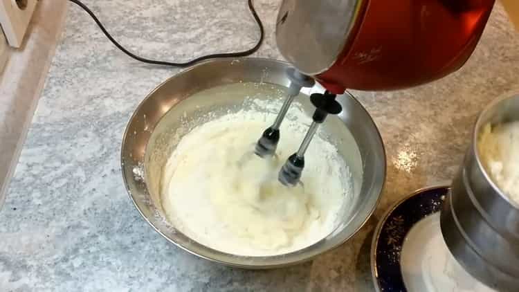
[[[165,219],[159,191],[161,172],[179,138],[190,127],[203,122],[204,117],[236,111],[242,107],[245,94],[234,90],[240,86],[255,98],[284,98],[284,91],[289,85],[285,75],[288,68],[289,64],[285,62],[256,58],[205,62],[159,85],[131,116],[121,149],[122,175],[129,196],[144,219],[176,246],[199,257],[231,266],[286,266],[306,261],[343,244],[372,214],[385,179],[383,143],[372,118],[352,95],[345,94],[338,97],[343,111],[338,117],[327,119],[322,126],[322,133],[336,145],[340,156],[349,166],[353,194],[348,198],[345,208],[341,209],[344,212],[336,221],[335,230],[327,237],[293,253],[248,257],[222,253],[203,246]],[[320,85],[316,85],[304,93],[323,90]],[[308,95],[301,94],[296,100],[309,113],[313,111]],[[196,122],[189,122],[193,118]],[[269,122],[266,121],[265,126]],[[258,138],[260,135],[258,133]]]

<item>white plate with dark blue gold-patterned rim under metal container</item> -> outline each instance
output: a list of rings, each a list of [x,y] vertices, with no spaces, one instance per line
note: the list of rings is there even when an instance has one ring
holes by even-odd
[[[439,211],[449,192],[446,186],[421,189],[385,213],[371,250],[376,291],[494,291],[464,271],[444,243]]]

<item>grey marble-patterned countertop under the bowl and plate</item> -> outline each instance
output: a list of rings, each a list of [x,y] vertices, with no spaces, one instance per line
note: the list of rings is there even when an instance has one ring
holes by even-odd
[[[133,51],[168,60],[251,46],[246,1],[85,1]],[[278,1],[257,0],[266,26],[258,56],[280,58]],[[406,194],[448,184],[477,113],[519,92],[519,34],[496,6],[466,66],[406,91],[355,92],[381,130],[388,177],[375,217],[313,262],[242,271],[169,244],[140,218],[120,175],[122,132],[149,91],[179,70],[116,50],[75,6],[51,65],[6,204],[0,211],[0,291],[372,291],[376,219]]]

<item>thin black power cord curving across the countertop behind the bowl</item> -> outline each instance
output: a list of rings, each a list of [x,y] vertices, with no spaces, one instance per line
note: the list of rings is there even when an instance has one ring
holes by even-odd
[[[145,62],[145,63],[148,63],[148,64],[156,64],[156,65],[163,65],[163,66],[174,66],[174,67],[188,67],[188,66],[196,64],[197,62],[200,62],[200,61],[203,61],[203,60],[208,60],[208,59],[226,58],[226,57],[245,57],[245,56],[248,56],[248,55],[251,55],[251,54],[255,53],[255,51],[257,51],[257,49],[260,48],[260,46],[262,45],[262,42],[263,42],[263,37],[264,37],[263,24],[262,24],[262,21],[261,21],[260,17],[257,16],[256,10],[254,9],[253,0],[248,0],[248,9],[251,10],[251,13],[252,13],[252,15],[253,15],[256,23],[257,23],[257,26],[260,28],[260,39],[257,41],[257,44],[255,46],[253,46],[253,48],[250,48],[250,49],[248,49],[246,51],[241,51],[241,52],[219,53],[219,54],[205,55],[205,56],[197,57],[196,59],[190,60],[188,62],[182,62],[182,63],[151,60],[151,59],[147,59],[145,57],[139,57],[138,55],[135,55],[134,53],[131,53],[130,51],[128,51],[125,47],[121,46],[107,32],[107,29],[104,28],[104,26],[101,24],[101,21],[99,21],[98,17],[96,17],[93,14],[92,10],[90,10],[90,8],[88,8],[86,5],[84,5],[81,1],[79,1],[79,0],[69,0],[69,1],[75,3],[76,5],[80,6],[80,8],[82,8],[84,11],[86,11],[86,13],[88,13],[93,18],[93,21],[95,21],[95,24],[97,24],[99,26],[99,28],[101,29],[102,33],[104,33],[104,35],[106,35],[108,37],[110,42],[112,42],[112,44],[114,44],[120,51],[122,51],[126,55],[129,55],[130,57],[134,58],[135,60],[138,60],[140,62]]]

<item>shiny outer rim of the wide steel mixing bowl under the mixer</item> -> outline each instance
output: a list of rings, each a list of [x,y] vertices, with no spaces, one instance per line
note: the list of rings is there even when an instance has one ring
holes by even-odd
[[[138,103],[138,106],[136,107],[136,109],[134,110],[134,112],[131,114],[130,118],[127,121],[127,124],[126,124],[126,127],[125,127],[125,131],[124,131],[123,136],[122,136],[122,142],[121,142],[121,145],[120,145],[120,167],[121,167],[122,179],[123,179],[123,182],[125,184],[125,188],[127,190],[127,194],[129,196],[129,198],[131,199],[132,203],[134,204],[134,207],[138,210],[140,216],[143,217],[143,219],[145,219],[145,221],[149,224],[149,226],[152,226],[152,228],[156,232],[158,232],[158,234],[160,234],[162,237],[164,237],[164,239],[166,239],[170,243],[172,243],[175,246],[181,248],[182,250],[187,251],[188,253],[190,253],[192,255],[196,255],[197,257],[201,257],[203,259],[208,259],[211,262],[217,262],[219,264],[224,264],[226,266],[234,266],[234,267],[238,267],[238,268],[251,268],[251,269],[279,268],[279,267],[284,267],[284,266],[292,266],[292,265],[295,265],[295,264],[300,264],[302,262],[307,262],[310,259],[313,259],[313,257],[316,257],[318,255],[321,255],[322,253],[327,253],[327,252],[329,252],[331,250],[334,250],[334,249],[338,248],[338,246],[344,244],[345,241],[349,240],[351,237],[356,235],[358,230],[361,230],[361,228],[363,228],[363,226],[365,226],[365,223],[373,215],[374,211],[376,210],[376,207],[379,205],[379,203],[381,201],[383,190],[385,189],[385,179],[386,179],[386,176],[387,176],[387,165],[388,165],[388,163],[387,163],[387,154],[385,153],[385,145],[383,143],[382,136],[380,134],[379,128],[376,127],[376,123],[374,122],[372,116],[370,116],[370,113],[367,112],[367,110],[365,109],[365,107],[363,107],[361,102],[359,102],[354,97],[354,95],[352,95],[352,93],[349,93],[349,91],[345,91],[344,95],[349,95],[349,98],[354,103],[356,103],[358,105],[358,107],[360,107],[365,112],[365,114],[366,114],[366,116],[368,118],[368,122],[370,122],[372,124],[373,129],[374,129],[374,133],[376,133],[376,139],[379,140],[379,142],[380,142],[381,158],[382,158],[381,164],[383,166],[383,167],[381,167],[382,169],[380,170],[381,171],[381,184],[379,185],[379,194],[376,197],[376,200],[374,201],[374,203],[373,203],[372,207],[370,208],[370,210],[368,210],[368,212],[366,214],[366,217],[361,221],[361,223],[356,228],[354,228],[353,232],[350,235],[348,235],[344,239],[341,239],[340,241],[336,242],[336,244],[334,244],[333,246],[330,246],[325,251],[320,251],[319,253],[310,254],[307,257],[302,257],[300,259],[295,259],[295,260],[290,261],[290,262],[283,262],[283,263],[279,263],[279,264],[261,264],[261,265],[254,264],[254,262],[248,262],[247,264],[237,264],[235,262],[226,262],[224,260],[217,259],[215,257],[212,257],[211,255],[207,255],[207,254],[204,255],[204,254],[198,253],[196,250],[192,250],[191,248],[189,248],[187,246],[183,246],[183,244],[180,244],[180,243],[174,241],[173,239],[168,237],[163,231],[158,229],[158,227],[155,226],[154,223],[152,223],[152,221],[150,221],[146,215],[144,215],[143,210],[141,210],[139,208],[138,203],[137,203],[136,199],[134,198],[133,190],[131,190],[130,187],[129,187],[129,181],[127,180],[127,176],[125,175],[125,155],[124,155],[124,149],[125,149],[125,145],[127,144],[127,139],[129,138],[129,131],[130,131],[131,121],[134,120],[134,118],[137,116],[137,114],[143,108],[143,106],[147,102],[147,100],[149,100],[149,98],[151,98],[154,95],[154,93],[156,93],[156,91],[158,91],[158,89],[161,89],[161,87],[164,86],[164,84],[166,84],[167,82],[170,82],[170,80],[173,80],[174,78],[177,78],[177,77],[179,77],[181,75],[185,75],[188,72],[193,71],[194,69],[197,69],[200,66],[204,66],[206,64],[213,63],[213,62],[225,62],[225,61],[227,61],[227,62],[232,63],[232,62],[235,62],[236,60],[245,61],[245,62],[255,62],[255,61],[271,62],[273,64],[280,64],[280,65],[286,66],[286,67],[292,66],[289,62],[285,62],[285,61],[281,61],[281,60],[274,60],[274,59],[270,59],[270,58],[263,58],[263,57],[239,57],[239,58],[233,58],[233,57],[230,57],[230,58],[205,60],[203,62],[200,62],[198,64],[190,66],[187,69],[183,69],[183,70],[179,71],[178,73],[175,73],[171,77],[167,77],[166,80],[164,80],[163,82],[158,84],[152,91],[150,91],[146,95],[145,98],[143,98],[143,100],[141,100]],[[318,84],[318,82],[316,82],[316,84]],[[147,192],[149,192],[148,187],[147,187],[147,183],[144,182],[144,185],[145,185],[145,187],[144,187],[145,190],[147,190]],[[179,231],[177,231],[177,232],[179,232]],[[187,237],[187,235],[185,235],[185,236]],[[321,239],[321,241],[322,241],[322,239]],[[318,242],[320,242],[320,241],[318,241]],[[318,242],[316,242],[315,244],[317,244]],[[243,257],[243,258],[247,258],[247,259],[254,259],[254,258],[274,258],[274,257],[286,258],[287,255],[292,255],[294,253],[300,253],[302,250],[305,250],[305,249],[313,246],[313,244],[311,246],[307,246],[306,248],[302,248],[300,250],[295,250],[295,251],[293,251],[291,253],[284,253],[284,254],[280,254],[280,255],[259,256],[259,257],[257,257],[257,256],[246,256],[246,255],[233,255],[233,254],[230,254],[230,253],[221,252],[220,250],[215,250],[215,249],[210,248],[210,247],[205,246],[205,245],[202,245],[202,246],[204,248],[206,248],[207,250],[214,251],[215,253],[224,254],[224,255],[227,255],[227,256],[231,256],[231,257]]]

